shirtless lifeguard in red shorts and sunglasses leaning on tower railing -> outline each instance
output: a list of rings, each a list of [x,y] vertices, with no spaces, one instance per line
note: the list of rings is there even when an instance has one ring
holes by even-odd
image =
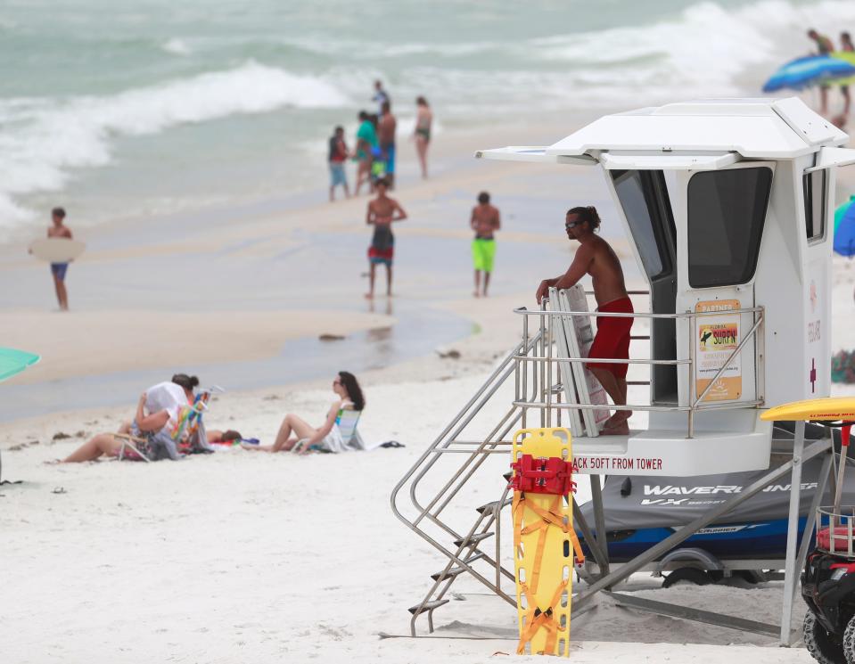
[[[595,234],[600,226],[600,217],[594,206],[572,208],[567,212],[564,228],[567,237],[579,242],[570,269],[555,279],[544,279],[538,286],[537,299],[546,297],[548,289],[570,288],[587,275],[594,283],[596,310],[600,313],[631,314],[632,302],[629,301],[626,285],[623,282],[621,261],[603,238]],[[629,359],[629,329],[631,317],[597,316],[596,337],[591,345],[588,357]],[[586,365],[600,381],[603,389],[615,404],[627,403],[627,369],[629,365],[596,364]],[[630,410],[619,410],[604,424],[602,433],[613,436],[629,435]]]

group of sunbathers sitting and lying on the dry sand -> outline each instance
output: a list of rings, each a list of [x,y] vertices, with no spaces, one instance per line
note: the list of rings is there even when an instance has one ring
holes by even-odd
[[[335,400],[325,421],[314,427],[297,414],[286,414],[272,445],[243,439],[234,430],[206,430],[201,424],[209,391],[198,392],[199,379],[177,373],[170,381],[146,389],[136,404],[133,420],[115,433],[100,433],[68,455],[61,463],[95,461],[102,456],[127,461],[176,461],[185,455],[214,452],[217,445],[240,443],[259,452],[344,452],[364,447],[357,432],[366,406],[356,376],[341,371],[333,379]]]

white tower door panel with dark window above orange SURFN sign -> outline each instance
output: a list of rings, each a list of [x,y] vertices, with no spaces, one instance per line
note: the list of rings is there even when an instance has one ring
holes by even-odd
[[[704,391],[703,403],[756,398],[758,338],[745,340],[755,318],[728,312],[755,306],[754,275],[773,168],[755,161],[678,174],[677,306],[706,314],[678,324],[679,347],[688,348],[693,360],[691,373],[683,367],[681,403]]]

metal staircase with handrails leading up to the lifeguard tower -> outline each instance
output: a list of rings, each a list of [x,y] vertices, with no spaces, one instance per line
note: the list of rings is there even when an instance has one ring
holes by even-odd
[[[527,322],[528,317],[525,317],[525,328]],[[511,504],[507,488],[509,474],[505,472],[509,463],[510,435],[527,426],[525,408],[511,406],[498,418],[497,424],[492,419],[486,427],[483,422],[474,421],[490,402],[516,404],[525,400],[522,395],[527,391],[531,393],[531,401],[539,400],[547,377],[538,374],[537,363],[530,363],[529,367],[521,363],[520,358],[542,355],[547,335],[541,327],[529,336],[525,329],[523,340],[502,360],[392,491],[391,507],[399,520],[448,559],[442,570],[431,575],[432,585],[423,599],[409,609],[412,614],[410,631],[414,636],[416,620],[423,614],[427,615],[429,631],[433,631],[433,611],[449,602],[451,586],[467,574],[516,606],[515,594],[507,594],[502,589],[503,577],[514,582],[514,570],[502,565],[500,515],[502,509]],[[512,389],[515,396],[507,393]],[[473,430],[478,432],[473,435]],[[498,463],[488,463],[491,455],[500,455],[495,459]],[[489,472],[490,477],[495,478],[497,497],[477,507],[474,517],[467,517],[467,513],[471,515],[472,504],[477,503],[471,496],[464,497],[464,487],[479,472]],[[437,482],[438,478],[440,482],[448,480],[439,488],[424,486]],[[428,492],[429,497],[423,498]]]

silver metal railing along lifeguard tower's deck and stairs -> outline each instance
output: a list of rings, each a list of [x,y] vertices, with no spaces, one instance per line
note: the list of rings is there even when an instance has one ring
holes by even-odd
[[[646,295],[646,291],[634,291],[633,295]],[[461,512],[452,511],[445,513],[449,504],[467,482],[478,472],[483,464],[494,455],[510,455],[510,435],[515,429],[530,427],[553,426],[555,418],[558,424],[561,422],[562,412],[570,409],[586,408],[630,408],[646,411],[678,411],[688,416],[687,436],[694,434],[695,413],[713,408],[746,408],[759,406],[762,401],[756,398],[756,389],[760,385],[757,374],[758,363],[755,363],[755,399],[739,402],[703,402],[709,389],[704,389],[700,395],[695,393],[695,340],[697,339],[697,321],[703,316],[722,315],[752,315],[752,327],[750,331],[740,340],[737,348],[729,355],[721,369],[712,378],[710,385],[719,380],[733,359],[744,350],[745,344],[757,338],[762,328],[763,308],[751,307],[745,309],[728,310],[727,312],[709,313],[684,313],[684,314],[610,314],[588,311],[561,311],[547,310],[546,305],[539,310],[528,310],[526,308],[514,309],[514,312],[522,316],[522,340],[511,350],[510,353],[497,365],[481,388],[478,389],[473,398],[461,408],[454,416],[448,426],[440,432],[440,435],[432,444],[424,450],[423,454],[404,474],[392,489],[391,508],[395,516],[403,522],[407,528],[413,530],[425,542],[432,545],[445,558],[444,569],[434,575],[434,581],[423,600],[410,609],[413,613],[410,628],[411,633],[416,635],[416,620],[423,613],[428,616],[428,625],[432,631],[432,613],[444,602],[444,596],[453,581],[458,578],[460,572],[465,572],[477,579],[481,584],[487,586],[490,591],[497,594],[508,603],[514,604],[514,598],[507,594],[502,588],[503,579],[514,580],[513,569],[502,565],[500,550],[499,514],[506,504],[506,483],[497,477],[496,497],[497,500],[485,506],[488,512],[479,512],[478,517],[472,521],[463,521],[459,516]],[[535,316],[532,319],[532,316]],[[688,340],[690,348],[683,357],[674,360],[657,359],[631,359],[627,360],[604,360],[588,357],[560,357],[555,352],[555,324],[560,321],[561,316],[614,316],[646,318],[646,319],[689,319]],[[530,321],[535,320],[536,325]],[[648,336],[634,336],[632,340],[647,340]],[[686,367],[691,387],[690,398],[686,406],[658,406],[654,404],[601,406],[591,404],[580,404],[573,402],[562,402],[563,386],[556,381],[562,376],[561,363],[589,363],[602,364],[627,363],[631,365],[662,366],[674,365],[675,367]],[[635,381],[635,384],[649,384],[648,381]],[[500,391],[505,390],[505,391]],[[498,422],[492,421],[478,433],[473,434],[470,429],[476,428],[482,422],[473,424],[476,415],[488,405],[491,400],[501,399],[506,410]],[[438,466],[440,459],[446,459],[447,464]],[[494,469],[495,470],[495,469]],[[422,489],[425,478],[430,477],[439,488],[426,491]],[[592,477],[592,482],[596,476]],[[596,485],[599,487],[599,485]],[[405,489],[407,489],[405,491]],[[423,496],[426,494],[426,496]],[[406,498],[405,498],[406,496]],[[459,502],[459,501],[458,501]],[[471,506],[471,505],[470,505]],[[577,512],[577,510],[574,510]],[[576,520],[580,528],[588,529],[588,525],[580,513],[576,514]],[[601,524],[602,528],[602,524]],[[479,536],[494,532],[495,550],[488,551],[482,544],[483,538]],[[590,537],[588,531],[586,541],[596,549],[597,542]],[[454,541],[459,544],[452,544]],[[490,549],[493,547],[490,546]],[[601,562],[602,569],[608,571],[607,556],[597,556]],[[599,559],[602,558],[602,561]],[[488,570],[477,569],[477,566],[487,566]]]

